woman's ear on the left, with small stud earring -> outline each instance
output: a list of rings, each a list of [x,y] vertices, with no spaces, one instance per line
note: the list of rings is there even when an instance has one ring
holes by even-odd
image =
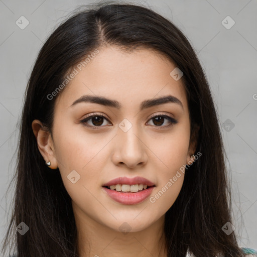
[[[39,152],[43,156],[46,163],[49,161],[51,162],[51,165],[48,167],[51,169],[57,169],[58,165],[55,158],[54,145],[50,132],[38,119],[33,120],[32,130],[37,140]]]

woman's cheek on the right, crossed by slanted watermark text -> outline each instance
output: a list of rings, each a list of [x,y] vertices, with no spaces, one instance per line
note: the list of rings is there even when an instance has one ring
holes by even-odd
[[[159,167],[156,165],[158,188],[150,198],[154,206],[159,206],[156,210],[154,209],[154,212],[158,212],[157,209],[159,209],[165,213],[179,195],[186,172],[189,137],[188,127],[180,126],[169,136],[159,139],[159,144],[154,148],[156,155],[160,157]]]

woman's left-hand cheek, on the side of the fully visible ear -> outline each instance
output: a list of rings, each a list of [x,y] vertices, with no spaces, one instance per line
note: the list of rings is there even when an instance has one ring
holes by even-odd
[[[61,130],[61,127],[55,127],[58,132],[54,135],[55,156],[64,186],[73,198],[81,190],[85,193],[85,188],[92,191],[99,185],[99,176],[107,156],[101,150],[109,139],[86,134],[79,124],[66,125],[65,130]],[[77,197],[81,197],[81,194]]]

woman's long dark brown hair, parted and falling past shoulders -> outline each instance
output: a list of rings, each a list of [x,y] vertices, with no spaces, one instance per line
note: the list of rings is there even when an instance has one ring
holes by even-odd
[[[200,127],[196,152],[201,158],[185,173],[178,198],[165,214],[168,256],[243,256],[234,232],[222,226],[231,222],[231,197],[226,158],[217,112],[205,73],[187,38],[169,20],[132,4],[98,3],[77,11],[47,39],[39,52],[25,94],[17,160],[15,204],[2,251],[12,242],[19,257],[77,256],[77,231],[71,205],[59,170],[45,165],[32,121],[39,119],[52,131],[55,101],[48,99],[71,68],[102,46],[123,51],[154,50],[167,56],[183,72],[191,133]],[[21,235],[16,226],[30,230]],[[11,254],[11,249],[10,252]]]

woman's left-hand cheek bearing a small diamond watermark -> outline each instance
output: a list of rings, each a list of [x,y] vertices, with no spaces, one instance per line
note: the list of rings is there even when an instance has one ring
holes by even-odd
[[[93,204],[91,193],[99,187],[104,169],[101,149],[106,143],[97,144],[89,136],[65,133],[56,138],[56,157],[64,187],[73,201]]]

